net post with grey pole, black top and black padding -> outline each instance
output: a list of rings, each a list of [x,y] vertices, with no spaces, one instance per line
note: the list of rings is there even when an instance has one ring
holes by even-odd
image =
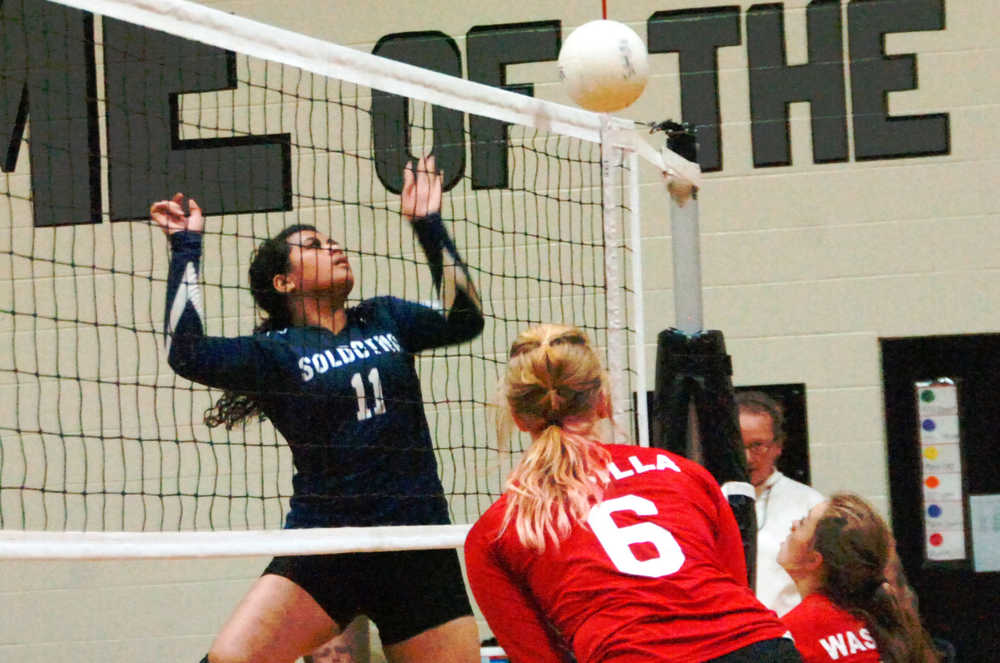
[[[697,163],[695,131],[666,121],[666,149]],[[650,444],[690,458],[707,469],[729,501],[740,528],[747,581],[755,586],[756,494],[733,398],[732,361],[721,331],[702,328],[698,191],[682,179],[668,181],[677,328],[657,337]]]

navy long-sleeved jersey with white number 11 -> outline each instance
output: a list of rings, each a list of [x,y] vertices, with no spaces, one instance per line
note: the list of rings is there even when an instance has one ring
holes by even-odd
[[[246,393],[261,404],[295,463],[287,527],[448,522],[414,354],[474,338],[483,318],[474,291],[465,294],[468,273],[440,220],[414,226],[439,288],[443,271],[446,285],[450,280],[454,286],[441,268],[442,248],[465,277],[453,306],[445,314],[376,297],[349,308],[337,334],[289,327],[205,336],[197,273],[201,235],[171,236],[170,365],[189,380]]]

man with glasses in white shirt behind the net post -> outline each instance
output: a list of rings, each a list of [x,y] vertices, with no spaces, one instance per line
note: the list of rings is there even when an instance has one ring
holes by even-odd
[[[778,566],[778,548],[792,523],[805,518],[824,498],[774,466],[784,445],[781,406],[758,391],[737,393],[736,405],[747,471],[757,493],[757,598],[780,617],[802,598],[791,577]]]

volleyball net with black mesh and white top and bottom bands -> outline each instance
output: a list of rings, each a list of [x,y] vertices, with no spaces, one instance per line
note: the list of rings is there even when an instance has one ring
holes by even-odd
[[[516,457],[490,410],[534,323],[588,332],[622,441],[646,439],[634,123],[466,81],[446,37],[373,55],[180,0],[9,0],[0,42],[0,556],[460,545]],[[457,68],[409,63],[438,51]],[[417,358],[456,525],[281,531],[284,440],[267,421],[206,427],[220,393],[166,364],[149,204],[183,191],[209,215],[211,335],[251,332],[251,253],[294,223],[344,244],[353,301],[433,302],[397,195],[429,153],[486,316],[481,337]]]

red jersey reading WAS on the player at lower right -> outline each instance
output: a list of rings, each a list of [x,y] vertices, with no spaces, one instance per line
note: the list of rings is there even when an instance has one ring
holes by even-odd
[[[805,663],[878,663],[875,638],[865,622],[822,594],[810,594],[781,618]]]

